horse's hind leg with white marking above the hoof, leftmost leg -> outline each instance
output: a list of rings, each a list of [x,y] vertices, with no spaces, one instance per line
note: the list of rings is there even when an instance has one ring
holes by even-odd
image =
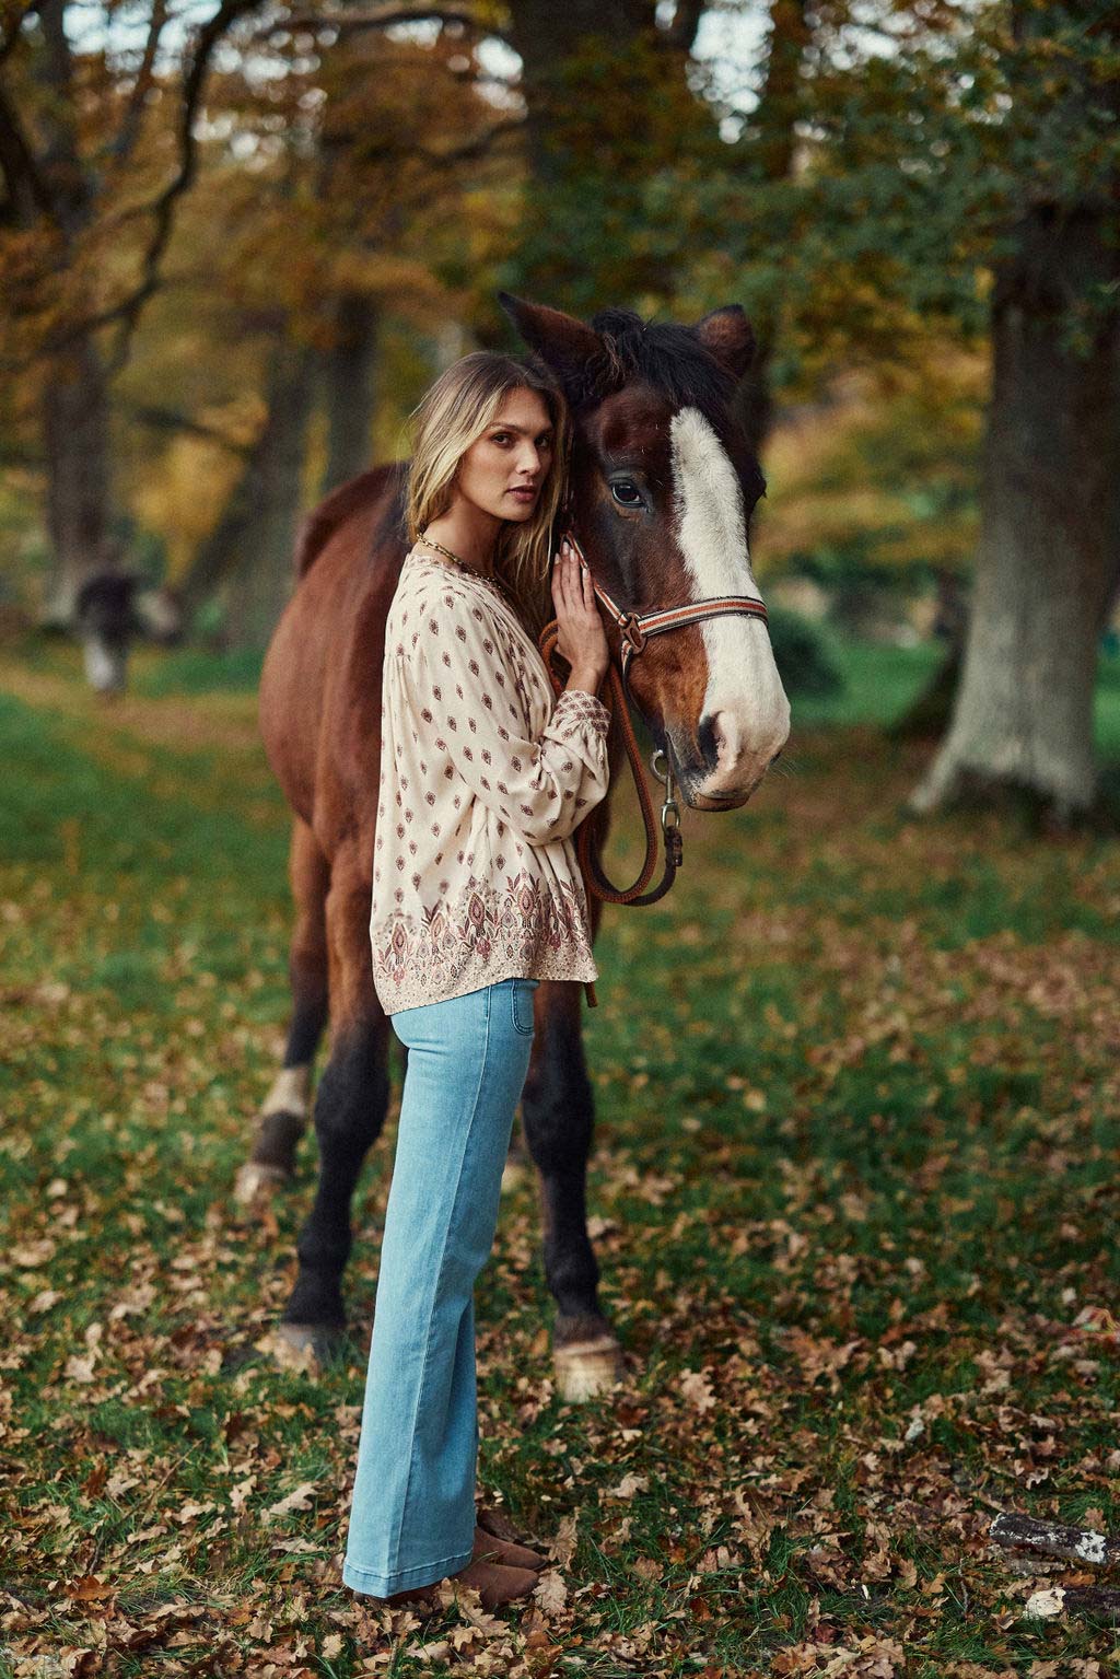
[[[265,1096],[249,1160],[237,1174],[233,1195],[242,1206],[296,1175],[296,1148],[307,1125],[311,1068],[327,1023],[326,897],[331,865],[299,816],[292,824],[287,878],[296,903],[296,928],[289,955],[292,1017],[284,1066]]]

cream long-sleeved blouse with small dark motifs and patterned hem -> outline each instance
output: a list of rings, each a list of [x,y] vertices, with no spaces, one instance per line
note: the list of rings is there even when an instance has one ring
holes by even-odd
[[[385,635],[373,863],[386,1014],[500,979],[598,979],[571,840],[606,796],[610,712],[552,693],[497,588],[405,556]]]

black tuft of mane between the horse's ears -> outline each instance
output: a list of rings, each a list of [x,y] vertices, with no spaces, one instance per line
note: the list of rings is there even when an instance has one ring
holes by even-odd
[[[734,378],[704,348],[692,327],[643,321],[633,309],[601,309],[591,326],[603,339],[568,383],[573,408],[589,408],[630,379],[645,379],[675,408],[699,408],[709,418],[727,413]]]

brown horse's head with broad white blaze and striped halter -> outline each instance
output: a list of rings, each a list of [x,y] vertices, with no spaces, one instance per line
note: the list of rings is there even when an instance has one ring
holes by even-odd
[[[759,599],[747,529],[766,489],[732,411],[754,354],[739,306],[695,326],[606,309],[591,324],[500,294],[573,411],[568,517],[623,611]],[[621,662],[621,630],[608,623]],[[697,809],[746,804],[789,735],[764,616],[724,611],[650,638],[630,693]]]

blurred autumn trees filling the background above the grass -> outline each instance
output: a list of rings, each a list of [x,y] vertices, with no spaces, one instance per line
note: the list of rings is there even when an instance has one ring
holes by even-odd
[[[259,650],[301,512],[401,452],[447,361],[507,343],[499,287],[583,314],[739,301],[757,562],[806,680],[814,618],[940,635],[919,803],[1091,806],[1120,564],[1110,7],[0,17],[13,608],[60,621],[129,569],[191,636]]]

